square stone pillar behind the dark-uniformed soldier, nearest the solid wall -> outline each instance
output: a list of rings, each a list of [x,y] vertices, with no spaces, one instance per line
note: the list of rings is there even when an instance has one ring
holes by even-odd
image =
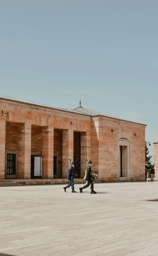
[[[90,133],[88,132],[81,132],[81,178],[85,175],[85,170],[87,167],[87,160],[90,159],[91,156],[91,137]]]

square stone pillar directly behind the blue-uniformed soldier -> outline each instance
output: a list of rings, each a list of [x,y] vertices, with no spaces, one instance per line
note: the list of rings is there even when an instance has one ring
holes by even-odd
[[[74,161],[74,130],[63,130],[63,178],[68,178],[70,160]]]

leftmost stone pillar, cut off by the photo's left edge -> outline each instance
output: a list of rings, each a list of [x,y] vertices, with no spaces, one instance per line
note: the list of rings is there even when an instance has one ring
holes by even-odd
[[[5,120],[0,120],[0,179],[4,179],[5,174]]]

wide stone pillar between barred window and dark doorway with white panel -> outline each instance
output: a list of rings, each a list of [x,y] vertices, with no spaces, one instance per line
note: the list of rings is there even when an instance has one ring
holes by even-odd
[[[30,179],[31,174],[31,124],[19,124],[18,179]]]

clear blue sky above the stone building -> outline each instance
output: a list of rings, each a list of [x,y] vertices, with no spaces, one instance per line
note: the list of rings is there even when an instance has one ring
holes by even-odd
[[[157,0],[1,0],[0,94],[62,108],[81,100],[147,124],[146,140],[158,141],[157,27]]]

